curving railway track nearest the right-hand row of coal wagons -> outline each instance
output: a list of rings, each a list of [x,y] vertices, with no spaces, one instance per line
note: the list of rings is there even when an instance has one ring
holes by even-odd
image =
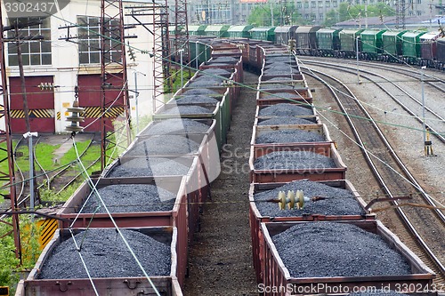
[[[326,84],[335,96],[384,194],[394,198],[411,193],[412,200],[409,203],[418,204],[419,207],[402,207],[405,202],[396,199],[392,201],[399,217],[409,229],[409,232],[399,231],[397,235],[401,236],[402,241],[433,269],[437,275],[434,283],[445,284],[443,246],[441,240],[437,240],[437,237],[445,237],[443,213],[425,208],[432,206],[433,201],[401,162],[383,132],[349,88],[335,77],[320,71],[312,69],[311,72],[307,70],[303,72]],[[331,86],[333,84],[336,85],[336,89]]]

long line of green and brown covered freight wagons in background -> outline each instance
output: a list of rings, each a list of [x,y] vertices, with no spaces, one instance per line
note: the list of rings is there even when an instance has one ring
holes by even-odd
[[[291,44],[300,55],[409,63],[445,69],[443,31],[409,31],[320,26],[190,26],[190,36],[250,38]],[[290,40],[293,40],[289,43]]]

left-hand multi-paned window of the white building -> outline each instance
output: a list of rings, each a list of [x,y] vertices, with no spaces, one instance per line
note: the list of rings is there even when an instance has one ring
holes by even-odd
[[[51,23],[50,18],[20,18],[9,20],[10,24],[19,22],[21,24],[31,23],[35,21],[41,21],[41,24],[37,24],[30,27],[20,28],[19,34],[23,37],[28,36],[43,36],[43,40],[36,41],[21,41],[21,59],[23,60],[23,66],[38,66],[38,65],[51,65]],[[15,30],[7,32],[8,38],[15,38]],[[8,65],[18,66],[19,60],[17,58],[17,44],[15,42],[8,43]]]

